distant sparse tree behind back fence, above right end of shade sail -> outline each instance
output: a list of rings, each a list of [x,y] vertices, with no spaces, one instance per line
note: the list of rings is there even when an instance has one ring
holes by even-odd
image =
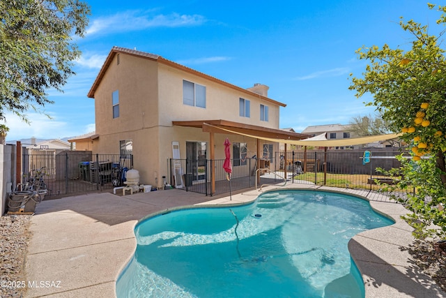
[[[348,132],[353,133],[359,137],[365,137],[367,135],[384,135],[391,133],[390,124],[383,119],[383,116],[378,114],[372,116],[356,116],[350,120]],[[398,145],[401,147],[399,140],[387,140],[392,146]]]

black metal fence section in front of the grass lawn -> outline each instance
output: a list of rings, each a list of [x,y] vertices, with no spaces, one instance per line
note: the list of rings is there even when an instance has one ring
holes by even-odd
[[[401,153],[395,149],[276,152],[275,171],[286,170],[290,179],[301,184],[383,191],[383,184],[394,184],[397,178],[386,177],[377,168],[400,167],[396,156]]]

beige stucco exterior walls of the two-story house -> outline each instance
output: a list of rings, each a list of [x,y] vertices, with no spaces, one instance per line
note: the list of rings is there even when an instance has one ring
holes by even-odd
[[[209,133],[203,133],[201,128],[172,126],[172,121],[224,119],[279,128],[279,105],[256,94],[239,92],[151,59],[119,55],[119,64],[116,54],[95,90],[95,133],[99,138],[91,145],[93,154],[119,154],[119,141],[132,140],[133,165],[139,170],[141,184],[161,187],[162,176],[169,181],[172,142],[179,142],[183,159],[186,142],[209,144]],[[183,105],[183,80],[206,86],[206,108]],[[115,90],[119,93],[120,115],[113,119],[112,92]],[[249,118],[239,116],[240,97],[251,100]],[[260,104],[268,106],[268,122],[260,121]],[[246,142],[248,157],[256,154],[256,140],[215,134],[216,159],[224,159],[226,136],[231,142]],[[277,144],[274,146],[277,150]]]

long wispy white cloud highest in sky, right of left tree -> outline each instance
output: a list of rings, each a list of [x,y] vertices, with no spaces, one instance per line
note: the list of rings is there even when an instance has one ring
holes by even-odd
[[[202,15],[151,15],[150,11],[129,10],[116,15],[99,17],[91,22],[86,36],[107,34],[111,32],[139,31],[155,27],[197,26],[206,22]]]

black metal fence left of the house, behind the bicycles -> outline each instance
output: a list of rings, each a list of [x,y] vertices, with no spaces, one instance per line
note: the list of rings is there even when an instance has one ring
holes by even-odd
[[[54,151],[23,154],[21,184],[33,179],[40,170],[47,187],[47,197],[58,198],[113,188],[123,183],[123,172],[132,168],[132,156],[91,154],[90,151]]]

